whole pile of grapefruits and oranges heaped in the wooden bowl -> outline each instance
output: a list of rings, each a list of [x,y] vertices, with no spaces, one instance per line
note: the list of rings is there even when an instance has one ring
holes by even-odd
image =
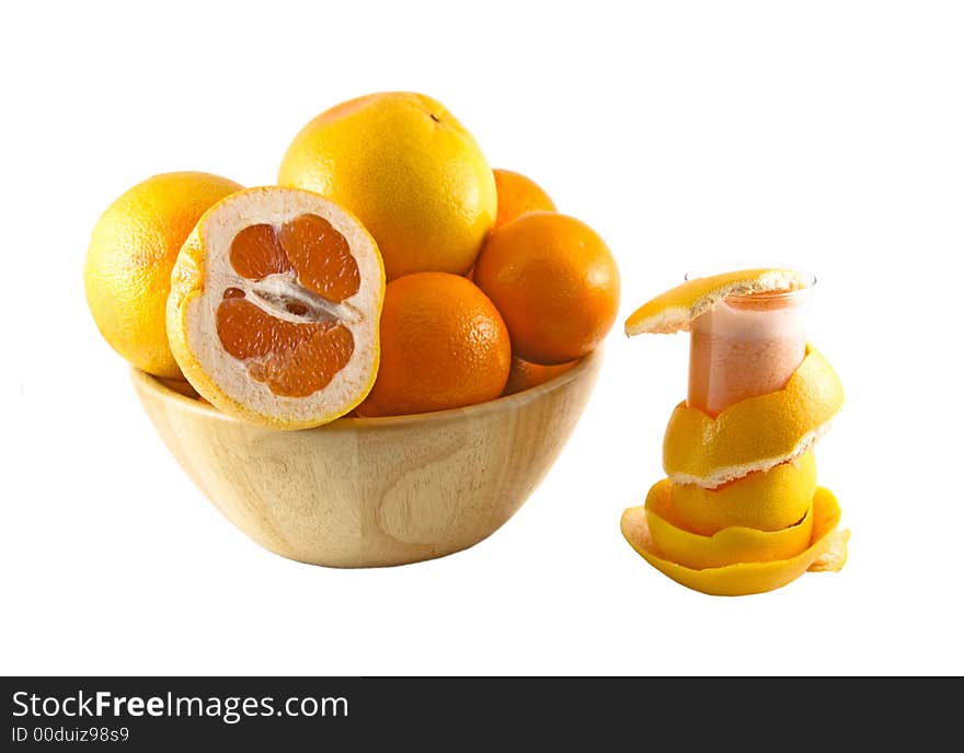
[[[94,228],[84,283],[135,367],[282,429],[529,389],[596,348],[619,304],[595,231],[404,92],[312,119],[276,186],[138,184]]]

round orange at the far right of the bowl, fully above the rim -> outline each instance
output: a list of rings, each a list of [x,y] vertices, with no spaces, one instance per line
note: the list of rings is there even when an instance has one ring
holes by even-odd
[[[475,283],[505,318],[515,355],[535,363],[572,361],[609,332],[619,308],[619,271],[589,225],[533,212],[489,238]]]

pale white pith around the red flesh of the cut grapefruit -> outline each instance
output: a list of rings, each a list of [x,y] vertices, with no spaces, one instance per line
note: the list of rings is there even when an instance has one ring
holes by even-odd
[[[328,220],[348,242],[358,265],[358,291],[341,303],[302,288],[296,274],[274,274],[261,280],[240,276],[230,263],[234,236],[253,224],[280,227],[301,215]],[[231,401],[268,417],[310,424],[333,408],[352,406],[362,397],[377,367],[378,301],[383,279],[380,257],[371,238],[340,207],[321,196],[287,188],[254,189],[237,194],[217,207],[200,228],[206,254],[204,289],[187,304],[187,344],[204,371]],[[348,362],[331,382],[306,397],[276,395],[248,374],[246,363],[225,350],[217,334],[217,310],[225,290],[243,290],[245,299],[272,316],[295,323],[337,320],[354,338]],[[298,301],[308,312],[288,312],[284,300]]]

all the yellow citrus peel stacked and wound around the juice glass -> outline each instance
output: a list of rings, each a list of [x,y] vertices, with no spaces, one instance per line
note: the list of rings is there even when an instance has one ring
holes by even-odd
[[[628,335],[688,329],[728,296],[792,289],[785,270],[688,280],[636,310]],[[759,368],[748,363],[747,368]],[[667,477],[622,514],[622,534],[651,565],[718,595],[780,588],[807,570],[839,570],[849,531],[834,495],[817,486],[813,445],[844,403],[837,374],[807,346],[785,386],[710,416],[686,402],[663,441]]]

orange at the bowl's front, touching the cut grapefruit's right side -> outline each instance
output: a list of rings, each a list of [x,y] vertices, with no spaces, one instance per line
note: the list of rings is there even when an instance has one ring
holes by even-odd
[[[381,367],[363,416],[458,408],[498,397],[508,378],[508,332],[485,293],[446,273],[386,287]]]

